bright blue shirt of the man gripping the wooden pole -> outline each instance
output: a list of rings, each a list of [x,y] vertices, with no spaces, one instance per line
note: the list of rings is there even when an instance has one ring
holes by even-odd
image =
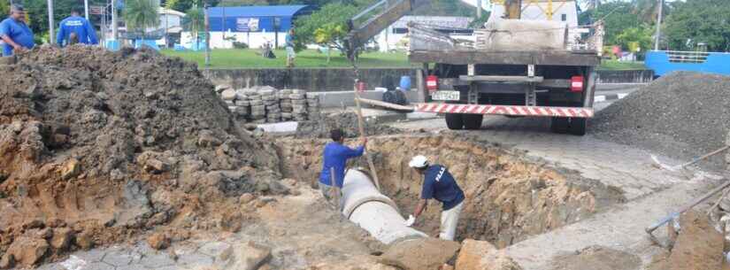
[[[345,180],[347,159],[360,157],[364,152],[365,147],[363,146],[351,149],[340,143],[327,143],[322,153],[324,162],[322,162],[322,172],[319,174],[319,182],[328,186],[332,185],[330,170],[334,168],[334,184],[336,187],[342,188],[342,182]]]

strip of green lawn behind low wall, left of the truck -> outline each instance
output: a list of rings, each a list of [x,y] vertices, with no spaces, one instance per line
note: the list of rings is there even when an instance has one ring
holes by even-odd
[[[170,57],[182,58],[196,62],[203,67],[205,63],[204,51],[176,51],[162,50],[162,54]],[[287,52],[274,50],[276,58],[263,58],[259,50],[220,49],[211,50],[211,68],[284,68],[287,64]],[[412,67],[408,57],[403,52],[368,52],[361,55],[357,64],[360,67]],[[351,67],[350,61],[339,52],[334,53],[329,63],[327,54],[317,50],[303,50],[296,54],[296,67]]]

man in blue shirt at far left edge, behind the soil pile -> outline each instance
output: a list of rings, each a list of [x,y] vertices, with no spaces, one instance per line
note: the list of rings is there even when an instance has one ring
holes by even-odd
[[[0,22],[0,38],[5,42],[3,55],[6,57],[35,46],[33,31],[26,24],[26,11],[22,5],[12,4],[10,16]]]

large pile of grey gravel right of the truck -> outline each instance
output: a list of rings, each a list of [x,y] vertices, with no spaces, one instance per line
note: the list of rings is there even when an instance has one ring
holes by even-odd
[[[688,159],[725,145],[730,76],[672,73],[596,113],[596,136]],[[709,159],[722,166],[722,155]]]

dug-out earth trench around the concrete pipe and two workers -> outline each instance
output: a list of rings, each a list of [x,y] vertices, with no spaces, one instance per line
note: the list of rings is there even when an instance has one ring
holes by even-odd
[[[321,151],[327,140],[290,138],[278,142],[282,171],[316,185]],[[354,142],[352,142],[354,143]],[[586,179],[524,153],[452,136],[381,136],[368,143],[382,193],[407,216],[416,206],[422,177],[408,167],[414,155],[425,155],[449,167],[465,191],[457,240],[486,240],[498,247],[518,243],[588,218],[625,200],[621,191]],[[365,158],[350,166],[367,167]],[[431,202],[416,229],[438,235],[441,205]]]

